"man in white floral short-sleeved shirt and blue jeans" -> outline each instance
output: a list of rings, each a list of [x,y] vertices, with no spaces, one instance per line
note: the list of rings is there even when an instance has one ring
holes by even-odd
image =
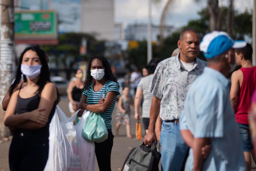
[[[162,171],[180,171],[188,146],[180,135],[179,117],[191,83],[203,72],[207,62],[197,59],[200,35],[194,29],[180,33],[177,56],[160,62],[155,70],[149,91],[154,96],[150,109],[150,122],[144,143],[157,143],[155,123],[160,112],[163,120],[161,144]]]

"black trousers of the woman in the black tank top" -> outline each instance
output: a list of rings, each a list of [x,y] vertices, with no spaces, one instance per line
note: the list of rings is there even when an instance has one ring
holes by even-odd
[[[43,171],[48,153],[48,137],[14,133],[9,149],[10,171]]]

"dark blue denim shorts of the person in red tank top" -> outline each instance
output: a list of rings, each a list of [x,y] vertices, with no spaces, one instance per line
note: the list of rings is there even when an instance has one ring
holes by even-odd
[[[238,132],[240,134],[241,142],[244,152],[250,152],[253,149],[252,140],[248,124],[237,123]]]

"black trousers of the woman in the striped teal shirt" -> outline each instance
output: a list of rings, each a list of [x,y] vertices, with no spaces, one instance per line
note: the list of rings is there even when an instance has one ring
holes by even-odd
[[[95,154],[100,171],[111,171],[111,151],[114,135],[111,129],[108,129],[108,139],[101,143],[95,143]]]

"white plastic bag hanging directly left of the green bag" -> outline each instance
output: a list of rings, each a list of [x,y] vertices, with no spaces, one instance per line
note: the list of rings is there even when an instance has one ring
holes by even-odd
[[[90,111],[84,111],[80,121],[75,125],[77,140],[80,147],[81,165],[82,171],[94,171],[95,170],[95,145],[94,142],[85,140],[82,137],[83,126],[87,121],[87,117]]]

